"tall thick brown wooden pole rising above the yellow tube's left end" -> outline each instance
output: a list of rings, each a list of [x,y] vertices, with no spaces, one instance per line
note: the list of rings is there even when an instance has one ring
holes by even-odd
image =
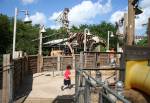
[[[128,27],[127,27],[127,45],[134,44],[135,32],[135,10],[132,4],[134,0],[128,0]]]

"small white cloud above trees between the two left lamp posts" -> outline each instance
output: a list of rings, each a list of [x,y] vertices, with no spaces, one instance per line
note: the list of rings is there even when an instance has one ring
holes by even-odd
[[[36,12],[30,16],[32,24],[46,24],[46,16],[41,12]]]

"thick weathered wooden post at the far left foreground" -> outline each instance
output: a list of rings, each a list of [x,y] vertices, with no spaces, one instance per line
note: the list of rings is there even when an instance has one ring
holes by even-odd
[[[10,90],[12,90],[10,85],[9,70],[10,69],[10,54],[3,55],[3,88],[2,88],[2,103],[9,103],[12,99]],[[11,72],[11,71],[10,71]],[[11,74],[11,73],[10,73]],[[11,75],[12,76],[12,75]],[[10,89],[11,88],[11,89]]]

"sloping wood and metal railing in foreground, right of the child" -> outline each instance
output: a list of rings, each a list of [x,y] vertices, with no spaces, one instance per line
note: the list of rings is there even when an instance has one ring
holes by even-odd
[[[98,91],[96,102],[91,98],[92,89]],[[111,89],[106,82],[102,82],[98,77],[93,78],[83,68],[76,69],[75,93],[76,103],[116,103],[116,101],[130,103],[117,91]]]

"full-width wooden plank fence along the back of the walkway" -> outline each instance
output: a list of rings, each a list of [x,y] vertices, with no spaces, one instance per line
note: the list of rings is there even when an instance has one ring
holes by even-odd
[[[116,58],[116,65],[119,66],[121,54],[113,54]],[[100,68],[100,66],[110,65],[109,55],[110,52],[82,52],[73,56],[43,56],[40,59],[42,61],[40,71],[63,71],[67,65],[71,65],[73,69],[77,67]]]

